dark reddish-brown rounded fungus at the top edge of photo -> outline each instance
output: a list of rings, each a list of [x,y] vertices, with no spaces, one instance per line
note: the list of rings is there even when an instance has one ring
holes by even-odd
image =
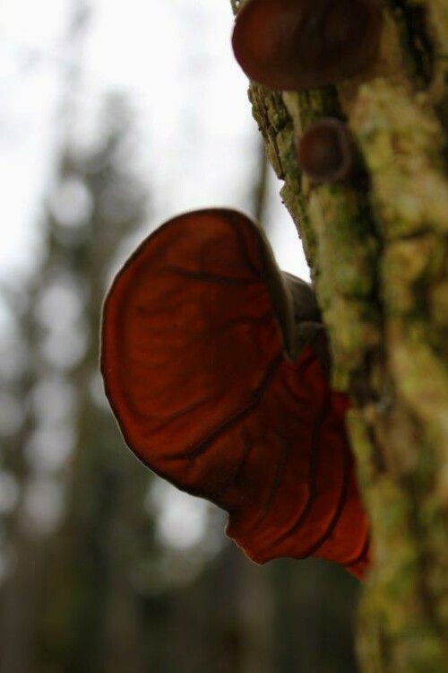
[[[232,44],[246,75],[271,89],[339,83],[374,61],[379,0],[249,0]]]

